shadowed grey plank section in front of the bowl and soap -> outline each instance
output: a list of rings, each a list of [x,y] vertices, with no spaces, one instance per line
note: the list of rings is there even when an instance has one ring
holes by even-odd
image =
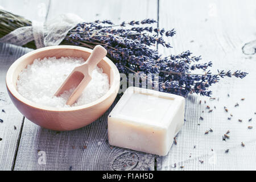
[[[154,169],[154,155],[108,144],[107,115],[73,131],[56,132],[24,122],[15,170]],[[45,163],[41,162],[45,155]]]

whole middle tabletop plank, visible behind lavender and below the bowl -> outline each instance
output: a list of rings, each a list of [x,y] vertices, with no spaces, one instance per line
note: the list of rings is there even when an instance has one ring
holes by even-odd
[[[114,23],[156,19],[157,1],[52,1],[48,19],[61,13]],[[108,144],[107,115],[113,106],[89,126],[61,133],[25,119],[15,170],[154,170],[154,155]]]

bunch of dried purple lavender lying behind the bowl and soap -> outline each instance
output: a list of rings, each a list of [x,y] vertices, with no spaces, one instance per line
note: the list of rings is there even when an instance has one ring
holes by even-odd
[[[201,56],[193,56],[190,51],[181,52],[178,55],[161,56],[153,46],[162,45],[172,48],[164,38],[172,37],[175,30],[153,28],[156,23],[152,19],[142,21],[123,22],[113,24],[110,20],[96,20],[95,22],[83,22],[77,24],[60,42],[60,45],[76,45],[93,49],[100,44],[108,50],[108,57],[115,63],[120,73],[135,73],[142,77],[152,75],[152,80],[158,80],[160,92],[174,93],[186,97],[196,93],[201,96],[210,96],[209,87],[224,77],[243,78],[246,72],[217,70],[212,74],[209,67],[212,62],[197,63]],[[30,20],[21,16],[0,10],[0,38],[20,28],[31,26]],[[23,45],[28,48],[36,48],[32,40]],[[153,48],[152,48],[153,47]],[[201,69],[203,74],[195,74],[193,71]],[[154,87],[156,82],[152,81]],[[141,86],[141,82],[140,85]]]

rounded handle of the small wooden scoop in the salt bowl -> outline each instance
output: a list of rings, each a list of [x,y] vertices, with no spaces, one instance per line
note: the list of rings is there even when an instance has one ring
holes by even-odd
[[[108,51],[100,45],[97,45],[93,48],[92,53],[86,60],[86,64],[88,64],[88,73],[89,75],[92,74],[93,69],[96,67],[98,63],[106,56]]]

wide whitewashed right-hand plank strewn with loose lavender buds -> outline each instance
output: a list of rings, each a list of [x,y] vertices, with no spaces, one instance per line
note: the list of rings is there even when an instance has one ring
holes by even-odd
[[[241,48],[255,40],[256,2],[160,0],[159,3],[159,27],[175,28],[177,31],[171,39],[173,49],[163,50],[160,47],[164,55],[189,49],[195,55],[202,55],[203,60],[211,60],[213,73],[217,68],[226,71],[241,69],[249,75],[243,80],[225,78],[212,86],[213,97],[219,98],[219,101],[200,96],[186,99],[187,121],[177,135],[177,145],[172,146],[167,156],[158,156],[157,170],[255,170],[253,151],[256,149],[256,135],[247,126],[255,126],[255,122],[248,122],[248,119],[255,120],[256,58],[243,55]],[[241,101],[243,97],[245,101]],[[199,105],[199,100],[203,104]],[[237,102],[239,106],[234,107]],[[213,108],[212,113],[205,109],[207,105]],[[224,106],[228,107],[228,113]],[[230,113],[233,117],[229,121]],[[203,121],[199,120],[200,116]],[[238,122],[238,119],[243,119],[243,122]],[[210,128],[213,132],[205,135]],[[228,130],[230,139],[225,142],[222,136]],[[241,142],[246,146],[242,147]],[[225,153],[227,149],[229,152]]]

